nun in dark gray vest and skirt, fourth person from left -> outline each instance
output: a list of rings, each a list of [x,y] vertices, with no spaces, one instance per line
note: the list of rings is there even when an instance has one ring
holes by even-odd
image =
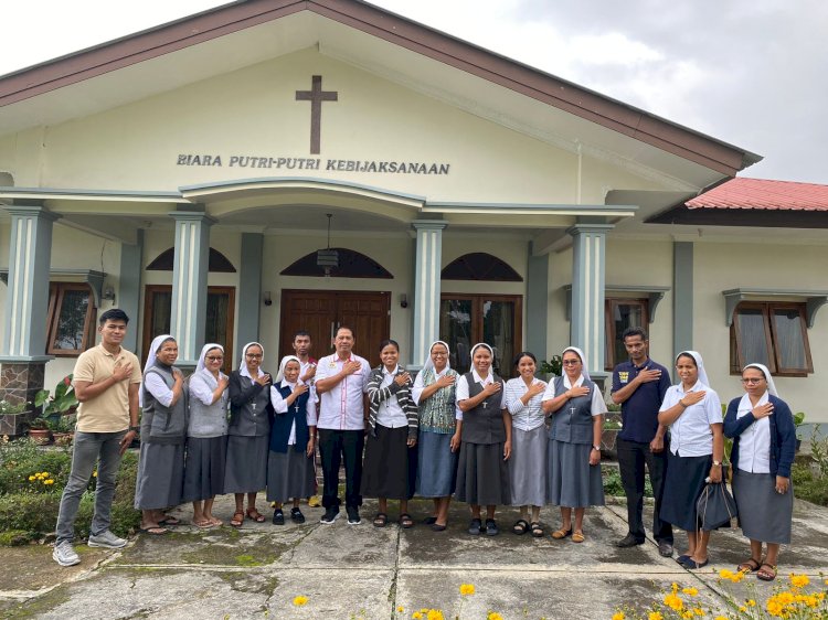
[[[230,524],[241,527],[245,515],[256,523],[265,516],[256,510],[256,493],[267,487],[270,442],[270,375],[261,368],[265,350],[258,342],[242,349],[242,363],[230,375],[230,426],[224,492],[235,493],[236,510]],[[244,494],[247,510],[244,510]]]

